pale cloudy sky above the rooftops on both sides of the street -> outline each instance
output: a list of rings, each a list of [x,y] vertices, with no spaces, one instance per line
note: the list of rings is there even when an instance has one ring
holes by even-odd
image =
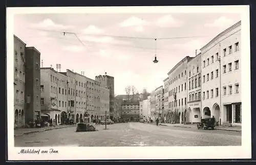
[[[127,85],[139,92],[163,85],[180,60],[239,20],[234,13],[16,14],[14,34],[40,51],[43,67],[114,76],[118,95]],[[190,38],[166,39],[175,37]]]

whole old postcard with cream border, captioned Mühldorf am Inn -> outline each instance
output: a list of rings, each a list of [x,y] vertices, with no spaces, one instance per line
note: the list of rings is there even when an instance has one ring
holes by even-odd
[[[251,158],[249,20],[249,6],[7,8],[8,159]]]

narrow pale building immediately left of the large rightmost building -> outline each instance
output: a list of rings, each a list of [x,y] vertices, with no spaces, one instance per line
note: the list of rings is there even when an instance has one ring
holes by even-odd
[[[184,112],[184,123],[201,122],[201,53],[187,64],[188,99],[187,110]]]

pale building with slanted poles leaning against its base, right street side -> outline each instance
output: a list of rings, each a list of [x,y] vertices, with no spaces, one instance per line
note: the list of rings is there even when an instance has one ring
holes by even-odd
[[[168,72],[168,107],[171,112],[167,123],[184,123],[184,112],[187,109],[187,64],[191,59],[185,57]]]

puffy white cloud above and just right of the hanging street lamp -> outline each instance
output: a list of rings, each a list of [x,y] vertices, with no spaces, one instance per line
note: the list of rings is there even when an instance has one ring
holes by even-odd
[[[158,18],[156,21],[156,25],[162,28],[180,27],[183,24],[183,21],[174,19],[172,15],[164,15]]]

